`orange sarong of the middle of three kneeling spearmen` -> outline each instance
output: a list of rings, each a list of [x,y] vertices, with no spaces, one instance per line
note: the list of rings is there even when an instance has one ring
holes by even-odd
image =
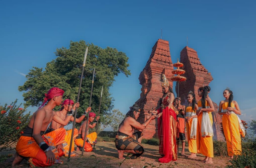
[[[66,131],[66,136],[65,136],[65,142],[67,142],[66,147],[64,148],[64,155],[68,156],[69,154],[69,148],[70,148],[70,142],[71,142],[71,133],[72,133],[72,129]],[[75,128],[74,129],[74,136],[73,136],[73,141],[72,141],[72,147],[71,147],[71,154],[70,156],[75,156],[75,147],[74,147],[74,138],[76,138],[78,136],[78,130]]]

